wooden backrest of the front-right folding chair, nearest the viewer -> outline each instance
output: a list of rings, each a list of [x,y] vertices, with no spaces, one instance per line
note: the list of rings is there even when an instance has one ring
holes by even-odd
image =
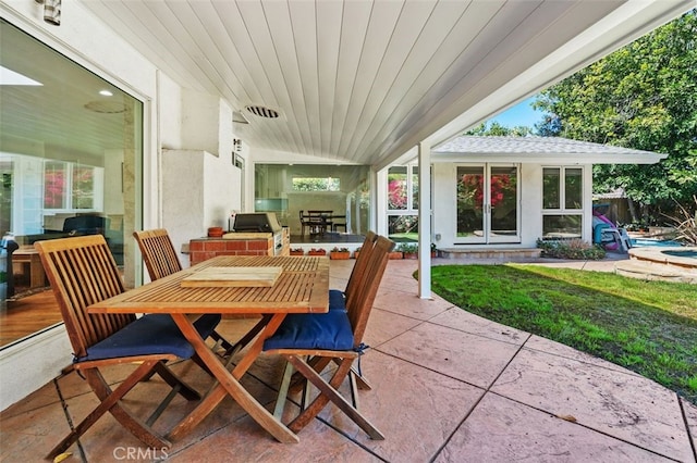
[[[363,342],[363,335],[368,325],[372,303],[378,295],[378,288],[392,249],[394,249],[394,241],[383,236],[377,237],[370,251],[370,259],[366,263],[364,277],[360,278],[359,284],[352,291],[351,300],[346,301],[346,311],[353,328],[354,345],[356,347]],[[363,249],[360,253],[363,253]]]

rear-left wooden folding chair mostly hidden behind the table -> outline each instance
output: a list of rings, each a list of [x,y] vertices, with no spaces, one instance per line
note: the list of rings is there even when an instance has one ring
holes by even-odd
[[[140,254],[145,266],[148,270],[150,279],[155,281],[168,275],[182,270],[182,263],[179,261],[174,245],[170,239],[170,235],[164,228],[155,228],[149,230],[133,232],[133,237],[140,248]],[[201,322],[208,325],[218,326],[222,316],[220,314],[210,313],[201,315]],[[225,355],[233,350],[233,346],[220,335],[213,330],[210,337],[225,349]]]

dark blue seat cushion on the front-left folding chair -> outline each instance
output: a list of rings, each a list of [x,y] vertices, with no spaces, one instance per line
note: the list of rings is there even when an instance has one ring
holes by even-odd
[[[200,337],[206,339],[216,329],[220,318],[220,314],[206,314],[194,322],[194,327]],[[84,362],[159,353],[171,353],[182,359],[189,359],[194,354],[194,348],[182,335],[170,315],[147,314],[91,346],[87,349],[86,356],[75,361]]]

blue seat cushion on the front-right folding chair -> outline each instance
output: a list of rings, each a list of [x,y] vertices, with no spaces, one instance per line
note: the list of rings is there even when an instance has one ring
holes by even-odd
[[[353,330],[345,311],[292,313],[283,318],[273,336],[264,341],[271,349],[353,349]]]

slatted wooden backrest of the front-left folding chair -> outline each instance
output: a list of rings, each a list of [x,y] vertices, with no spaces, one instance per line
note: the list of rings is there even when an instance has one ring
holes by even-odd
[[[89,314],[86,308],[123,292],[123,280],[102,235],[37,241],[46,275],[76,356],[133,320],[126,314]]]

